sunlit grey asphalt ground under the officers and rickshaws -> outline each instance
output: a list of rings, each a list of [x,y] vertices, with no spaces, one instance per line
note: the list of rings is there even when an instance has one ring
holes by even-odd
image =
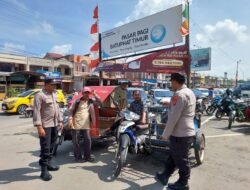
[[[203,117],[206,135],[205,162],[196,166],[192,159],[191,190],[250,189],[250,124],[235,124],[227,129],[227,121]],[[129,155],[128,167],[119,178],[110,180],[114,169],[112,141],[95,144],[95,163],[74,163],[71,142],[58,149],[55,162],[61,168],[53,172],[53,180],[39,179],[39,141],[31,119],[0,112],[0,189],[1,190],[62,190],[62,189],[165,189],[154,180],[163,168],[159,154]],[[170,182],[178,177],[177,172]]]

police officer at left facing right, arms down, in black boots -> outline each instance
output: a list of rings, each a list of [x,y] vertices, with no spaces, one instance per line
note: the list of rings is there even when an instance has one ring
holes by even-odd
[[[59,166],[51,163],[52,150],[57,138],[57,128],[62,129],[62,116],[55,92],[56,84],[55,79],[45,79],[44,88],[35,95],[34,99],[33,123],[37,128],[40,139],[40,177],[44,181],[52,179],[49,171],[59,170]]]

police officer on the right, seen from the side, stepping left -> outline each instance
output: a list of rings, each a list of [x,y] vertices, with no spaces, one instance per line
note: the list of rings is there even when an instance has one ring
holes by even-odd
[[[188,190],[190,178],[189,149],[194,140],[194,116],[196,98],[194,93],[186,87],[185,77],[179,73],[171,75],[174,95],[168,112],[168,121],[162,134],[163,140],[170,141],[170,152],[165,170],[156,174],[156,179],[163,185],[168,184],[169,177],[175,169],[179,169],[179,179],[168,184],[168,189]]]

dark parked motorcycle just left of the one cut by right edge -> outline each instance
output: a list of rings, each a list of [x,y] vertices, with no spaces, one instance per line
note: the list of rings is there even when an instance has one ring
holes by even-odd
[[[221,119],[224,115],[229,116],[230,112],[235,109],[235,103],[231,96],[225,96],[218,105],[215,117]]]

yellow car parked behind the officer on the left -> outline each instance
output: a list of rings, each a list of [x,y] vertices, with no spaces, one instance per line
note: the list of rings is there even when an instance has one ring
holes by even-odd
[[[35,94],[37,94],[40,91],[41,89],[32,89],[23,92],[17,97],[8,98],[3,101],[2,110],[7,113],[18,113],[22,115],[24,114],[26,108],[33,103]],[[63,95],[62,90],[56,90],[56,91],[57,91],[57,102],[59,103],[60,106],[65,105],[66,99]]]

